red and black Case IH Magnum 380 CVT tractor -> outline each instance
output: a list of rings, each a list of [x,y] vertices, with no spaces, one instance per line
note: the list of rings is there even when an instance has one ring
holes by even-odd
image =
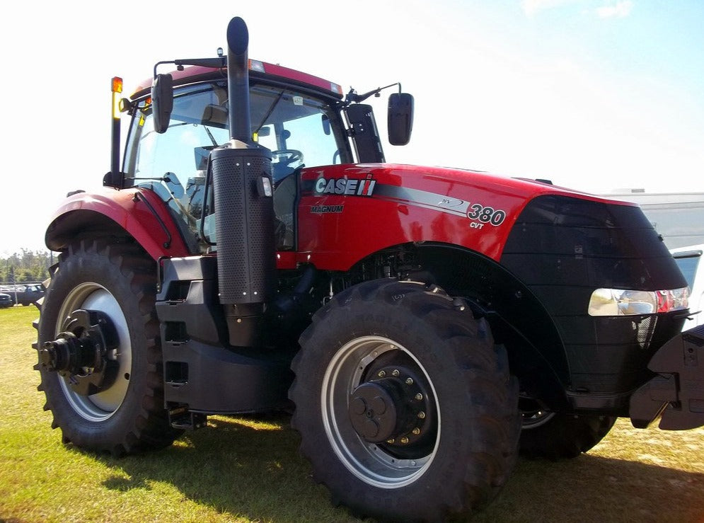
[[[124,149],[113,89],[105,187],[47,229],[36,368],[64,442],[120,455],[294,409],[335,502],[437,520],[619,416],[704,424],[704,333],[639,207],[386,163],[382,88],[249,60],[241,18],[227,41],[120,101]],[[389,96],[391,144],[412,106]]]

